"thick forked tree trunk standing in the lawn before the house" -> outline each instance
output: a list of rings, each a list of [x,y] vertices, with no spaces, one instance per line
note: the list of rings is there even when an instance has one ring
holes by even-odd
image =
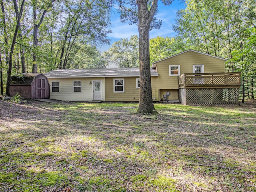
[[[157,0],[153,1],[148,11],[147,0],[138,0],[139,18],[139,61],[140,61],[140,104],[137,110],[140,114],[156,114],[152,100],[150,56],[149,56],[149,30],[150,23],[157,8]]]

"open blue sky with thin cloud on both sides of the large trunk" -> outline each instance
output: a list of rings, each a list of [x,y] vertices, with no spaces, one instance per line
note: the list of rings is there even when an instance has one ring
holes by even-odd
[[[162,20],[162,26],[160,30],[150,31],[150,38],[157,36],[169,36],[173,37],[176,33],[172,29],[172,25],[175,24],[176,12],[180,9],[184,9],[186,4],[182,0],[174,0],[170,6],[164,6],[161,1],[158,2],[158,13],[156,18]],[[110,45],[104,45],[100,48],[100,51],[106,51],[110,48],[113,42],[120,40],[120,38],[130,38],[132,35],[138,35],[138,27],[136,24],[129,25],[128,23],[121,23],[119,15],[112,13],[111,16],[111,30],[112,33],[108,34],[108,38],[111,39]]]

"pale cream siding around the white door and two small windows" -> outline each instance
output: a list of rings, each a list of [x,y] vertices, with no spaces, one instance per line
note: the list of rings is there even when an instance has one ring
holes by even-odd
[[[102,82],[102,100],[105,100],[105,79],[104,78],[48,78],[50,85],[52,81],[59,82],[59,92],[52,92],[50,87],[50,98],[63,101],[92,101],[93,80]],[[73,81],[81,81],[81,92],[74,92]]]

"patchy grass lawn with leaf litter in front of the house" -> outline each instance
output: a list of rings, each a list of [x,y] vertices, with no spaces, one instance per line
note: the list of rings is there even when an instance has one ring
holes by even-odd
[[[256,103],[0,101],[0,191],[255,192]]]

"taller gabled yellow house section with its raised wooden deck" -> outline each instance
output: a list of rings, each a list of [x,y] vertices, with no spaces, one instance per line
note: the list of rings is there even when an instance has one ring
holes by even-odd
[[[182,104],[238,104],[240,73],[225,73],[226,61],[195,50],[156,61],[152,92]]]

